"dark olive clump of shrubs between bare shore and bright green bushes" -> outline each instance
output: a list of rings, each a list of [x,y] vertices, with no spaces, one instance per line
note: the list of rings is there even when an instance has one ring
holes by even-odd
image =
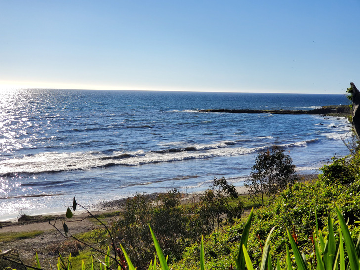
[[[153,203],[148,196],[136,194],[127,199],[123,213],[109,225],[116,241],[137,266],[144,266],[153,258],[149,224],[169,262],[173,262],[201,235],[210,235],[221,225],[234,223],[243,212],[242,202],[231,204],[238,193],[224,177],[214,178],[213,186],[205,191],[199,203],[184,204],[181,196],[177,189],[172,189],[160,194]]]

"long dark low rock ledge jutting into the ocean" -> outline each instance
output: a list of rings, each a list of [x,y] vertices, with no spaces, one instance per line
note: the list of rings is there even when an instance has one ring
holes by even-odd
[[[271,113],[271,114],[322,114],[328,116],[343,116],[347,117],[350,115],[350,108],[347,105],[340,106],[323,106],[320,109],[315,110],[249,110],[249,109],[240,109],[240,110],[228,110],[228,109],[219,109],[219,110],[198,110],[198,112],[224,112],[224,113]],[[360,111],[359,111],[360,115]]]

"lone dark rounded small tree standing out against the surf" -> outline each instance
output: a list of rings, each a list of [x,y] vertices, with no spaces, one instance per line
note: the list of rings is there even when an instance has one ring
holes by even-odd
[[[255,157],[250,178],[244,184],[248,188],[251,200],[257,201],[260,197],[264,206],[264,196],[269,198],[298,180],[292,158],[284,152],[275,143],[271,150],[260,152]]]

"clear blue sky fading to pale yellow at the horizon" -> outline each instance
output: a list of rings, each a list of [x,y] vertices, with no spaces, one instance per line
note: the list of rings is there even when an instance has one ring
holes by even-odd
[[[360,0],[0,0],[0,88],[343,94]]]

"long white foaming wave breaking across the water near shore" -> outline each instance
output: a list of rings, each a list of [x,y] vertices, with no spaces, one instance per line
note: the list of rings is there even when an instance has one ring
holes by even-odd
[[[307,147],[318,139],[279,145],[282,148]],[[271,144],[259,147],[241,147],[236,141],[223,141],[211,145],[193,145],[153,151],[116,152],[47,152],[12,158],[0,162],[0,176],[16,174],[56,173],[73,170],[89,170],[109,166],[138,166],[161,162],[178,162],[191,159],[209,159],[224,156],[240,156],[269,149]]]

